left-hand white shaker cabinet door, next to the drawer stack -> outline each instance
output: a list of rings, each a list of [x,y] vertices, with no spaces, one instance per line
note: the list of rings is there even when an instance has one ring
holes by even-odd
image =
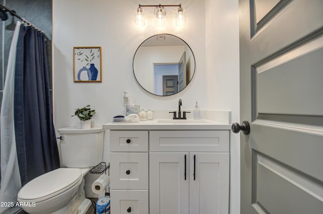
[[[188,153],[149,154],[150,214],[189,213],[188,159]]]

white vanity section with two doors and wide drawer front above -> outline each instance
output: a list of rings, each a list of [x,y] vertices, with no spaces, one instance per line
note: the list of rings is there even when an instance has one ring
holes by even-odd
[[[150,214],[229,213],[229,131],[149,136]]]

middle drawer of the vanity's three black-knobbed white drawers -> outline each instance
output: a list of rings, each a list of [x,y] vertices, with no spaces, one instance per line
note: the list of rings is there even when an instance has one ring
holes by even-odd
[[[148,189],[148,153],[110,153],[111,189]]]

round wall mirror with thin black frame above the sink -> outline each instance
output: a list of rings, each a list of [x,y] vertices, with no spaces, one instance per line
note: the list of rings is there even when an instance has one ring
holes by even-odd
[[[176,94],[191,82],[195,58],[181,38],[158,34],[143,41],[133,57],[133,73],[139,85],[158,96]]]

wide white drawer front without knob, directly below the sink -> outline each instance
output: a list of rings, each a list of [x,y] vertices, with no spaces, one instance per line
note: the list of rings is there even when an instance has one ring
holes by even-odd
[[[150,152],[229,152],[229,130],[150,131]]]

